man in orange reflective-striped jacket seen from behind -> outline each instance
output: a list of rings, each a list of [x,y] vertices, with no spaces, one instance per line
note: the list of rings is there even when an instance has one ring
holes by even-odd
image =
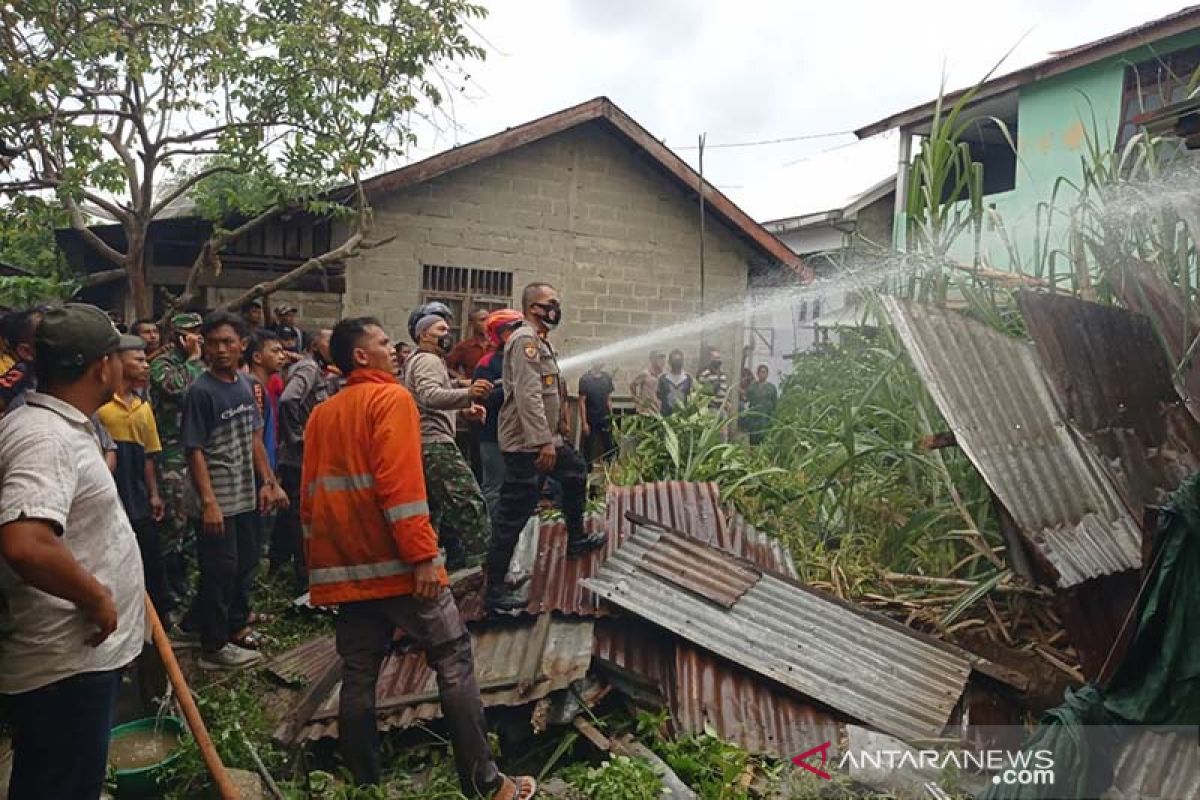
[[[487,744],[475,664],[430,524],[420,414],[396,383],[395,349],[378,320],[344,319],[330,339],[346,377],[305,428],[300,521],[316,606],[338,606],[338,736],[359,783],[379,783],[376,684],[402,628],[438,678],[463,792],[527,800],[533,778],[509,778]]]

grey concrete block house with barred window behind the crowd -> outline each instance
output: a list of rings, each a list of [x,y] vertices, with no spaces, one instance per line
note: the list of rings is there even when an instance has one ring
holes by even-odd
[[[514,305],[526,283],[547,281],[563,296],[564,323],[554,339],[569,356],[739,306],[756,276],[794,277],[804,269],[712,186],[703,188],[701,261],[700,176],[604,97],[377,175],[365,188],[374,210],[372,236],[395,239],[313,276],[302,291],[280,293],[272,305],[295,302],[310,323],[376,314],[398,337],[421,301],[446,301],[462,319],[472,308]],[[203,241],[194,219],[156,225],[192,225],[190,240],[196,247]],[[337,223],[328,230],[329,223],[300,215],[277,228],[287,225],[312,230],[265,229],[256,242],[236,242],[222,257],[222,275],[206,278],[206,302],[276,276],[344,235]],[[109,269],[70,234],[62,239],[80,271]],[[179,264],[190,264],[191,252],[176,249],[151,246],[152,258],[176,263],[152,261],[151,279],[182,282]],[[118,296],[108,300],[120,303]],[[740,320],[661,341],[684,349],[689,368],[706,343],[725,350],[734,377]],[[619,371],[618,393],[628,391],[646,355],[631,351],[610,363]],[[572,391],[576,375],[569,375]]]

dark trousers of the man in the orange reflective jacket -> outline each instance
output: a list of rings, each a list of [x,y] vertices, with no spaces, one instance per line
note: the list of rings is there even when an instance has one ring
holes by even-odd
[[[392,634],[401,628],[425,651],[425,661],[438,678],[442,716],[450,729],[463,794],[486,796],[494,792],[500,777],[487,744],[470,636],[450,590],[443,589],[437,600],[402,596],[342,603],[334,627],[342,657],[338,745],[354,781],[379,783],[376,684]]]

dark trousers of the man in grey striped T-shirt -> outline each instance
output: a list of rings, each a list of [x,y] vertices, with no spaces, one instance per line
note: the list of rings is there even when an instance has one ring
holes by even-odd
[[[262,518],[257,511],[226,517],[222,536],[209,536],[199,519],[196,553],[200,563],[200,585],[185,627],[199,630],[200,646],[216,652],[229,637],[250,624],[250,590],[258,567]]]

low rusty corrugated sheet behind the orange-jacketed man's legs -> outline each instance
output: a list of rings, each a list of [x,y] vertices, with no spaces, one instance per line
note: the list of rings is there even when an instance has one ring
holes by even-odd
[[[498,620],[472,631],[470,638],[475,678],[487,708],[524,705],[565,688],[583,678],[592,662],[592,620],[550,614],[536,619]],[[331,642],[329,648],[332,649]],[[330,657],[336,660],[337,654]],[[310,651],[307,660],[311,663],[318,656]],[[284,663],[287,661],[284,658]],[[337,735],[340,691],[338,682],[301,729],[301,739]],[[437,680],[425,663],[424,652],[413,650],[388,656],[379,673],[376,704],[380,730],[407,728],[440,716]]]

